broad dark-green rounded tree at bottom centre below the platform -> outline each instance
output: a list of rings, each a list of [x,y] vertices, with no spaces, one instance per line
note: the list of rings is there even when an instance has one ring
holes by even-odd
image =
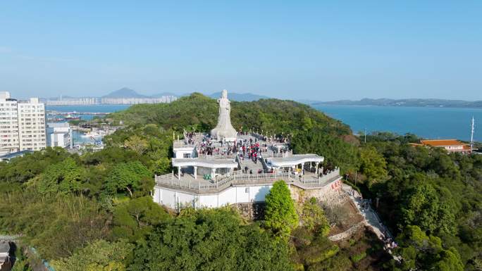
[[[129,270],[275,271],[292,265],[286,241],[221,208],[190,211],[156,227],[135,248]]]

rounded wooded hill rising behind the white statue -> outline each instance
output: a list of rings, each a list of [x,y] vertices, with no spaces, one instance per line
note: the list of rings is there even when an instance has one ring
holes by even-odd
[[[328,117],[310,106],[295,101],[261,99],[232,101],[231,122],[237,130],[263,130],[280,134],[302,130],[313,125],[330,134],[352,134],[350,127]],[[109,115],[124,125],[156,124],[164,129],[183,129],[208,132],[216,126],[218,104],[203,94],[194,93],[172,103],[139,104],[126,111]],[[310,122],[310,123],[307,123]]]

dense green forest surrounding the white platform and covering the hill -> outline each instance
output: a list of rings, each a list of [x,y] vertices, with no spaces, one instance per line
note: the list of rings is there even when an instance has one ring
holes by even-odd
[[[402,262],[370,232],[328,240],[329,210],[314,198],[298,206],[284,182],[256,222],[233,208],[173,213],[154,203],[154,174],[171,172],[173,134],[216,125],[216,100],[192,94],[109,115],[125,127],[101,151],[48,148],[0,163],[0,231],[37,251],[19,249],[15,270],[30,270],[35,257],[56,270],[482,270],[481,155],[414,147],[412,134],[375,133],[364,143],[293,101],[231,106],[236,129],[288,136],[295,152],[325,156],[324,166],[340,166],[345,182],[378,198]]]

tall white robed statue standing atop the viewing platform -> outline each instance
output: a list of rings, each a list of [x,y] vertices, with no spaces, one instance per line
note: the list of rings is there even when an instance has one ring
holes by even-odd
[[[228,100],[228,91],[221,92],[221,98],[218,99],[219,115],[218,125],[211,130],[211,137],[224,141],[236,141],[237,132],[231,125],[231,104]]]

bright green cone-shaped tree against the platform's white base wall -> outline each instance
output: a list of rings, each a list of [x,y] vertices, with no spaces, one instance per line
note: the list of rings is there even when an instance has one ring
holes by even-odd
[[[266,227],[281,235],[290,234],[291,229],[298,225],[295,203],[283,180],[275,182],[266,195],[264,219]]]

